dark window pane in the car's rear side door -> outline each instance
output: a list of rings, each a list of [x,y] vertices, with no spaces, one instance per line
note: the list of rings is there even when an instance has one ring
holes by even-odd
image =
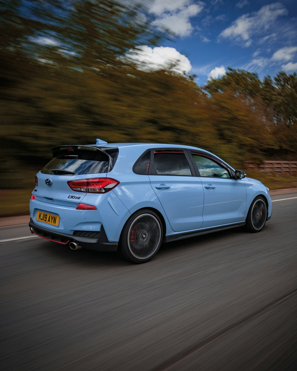
[[[155,151],[152,174],[187,175],[192,172],[185,153],[180,151]]]

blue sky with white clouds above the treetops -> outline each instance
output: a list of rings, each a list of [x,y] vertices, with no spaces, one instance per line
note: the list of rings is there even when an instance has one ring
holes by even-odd
[[[139,46],[130,57],[152,69],[177,60],[177,72],[196,74],[203,84],[228,67],[257,72],[297,71],[296,0],[152,0],[156,26],[175,32],[161,47]],[[143,67],[142,67],[143,68]]]

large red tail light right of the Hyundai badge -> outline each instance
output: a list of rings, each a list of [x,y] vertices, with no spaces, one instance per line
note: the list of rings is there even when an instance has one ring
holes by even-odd
[[[72,191],[89,193],[106,193],[120,184],[118,180],[112,178],[69,180],[67,183]]]

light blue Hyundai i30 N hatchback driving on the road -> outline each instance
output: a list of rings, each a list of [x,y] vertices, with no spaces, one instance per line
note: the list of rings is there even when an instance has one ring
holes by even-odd
[[[135,263],[161,243],[270,219],[269,190],[196,147],[156,143],[62,145],[36,174],[30,230]]]

